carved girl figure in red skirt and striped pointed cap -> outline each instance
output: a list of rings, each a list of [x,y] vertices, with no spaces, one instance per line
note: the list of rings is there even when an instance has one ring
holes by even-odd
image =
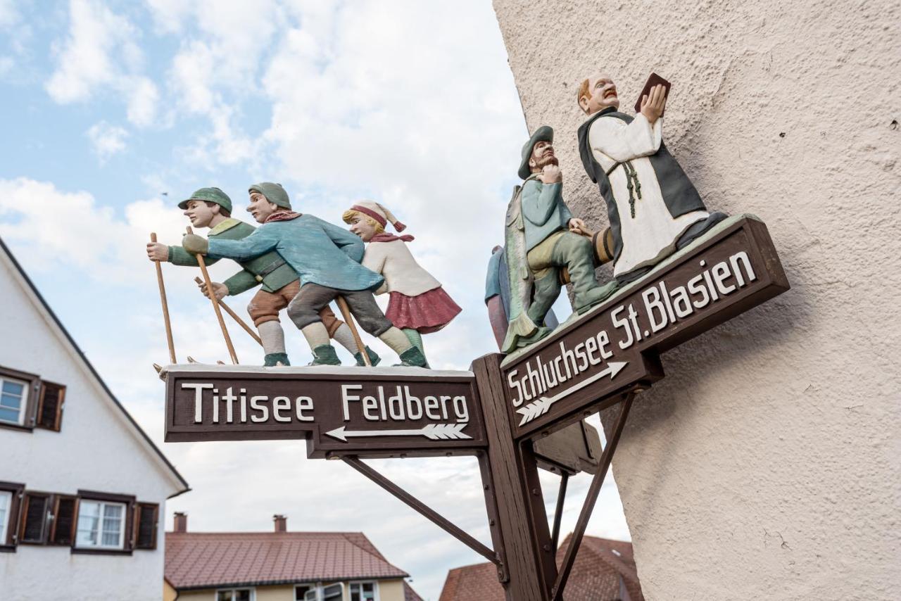
[[[361,200],[345,211],[341,218],[350,223],[350,232],[369,242],[363,255],[363,267],[380,273],[385,283],[376,294],[388,293],[385,316],[404,331],[425,356],[423,334],[438,332],[460,313],[460,306],[441,288],[441,282],[414,260],[406,242],[413,236],[386,233],[391,222],[397,232],[406,226],[396,220],[384,206]]]

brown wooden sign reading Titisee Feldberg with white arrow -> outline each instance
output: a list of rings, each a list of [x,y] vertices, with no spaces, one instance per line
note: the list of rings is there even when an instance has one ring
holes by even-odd
[[[172,366],[165,378],[167,442],[305,438],[314,458],[487,445],[469,371],[193,364]]]

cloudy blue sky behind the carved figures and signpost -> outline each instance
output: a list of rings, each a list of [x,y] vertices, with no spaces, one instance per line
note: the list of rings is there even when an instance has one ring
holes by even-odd
[[[496,351],[484,268],[526,130],[488,0],[0,0],[0,125],[0,236],[194,488],[168,504],[168,524],[187,511],[191,530],[268,531],[283,513],[292,530],[363,531],[430,599],[448,569],[481,561],[340,462],[306,460],[303,442],[164,444],[150,364],[167,350],[143,246],[151,231],[180,239],[175,205],[197,187],[222,187],[239,218],[260,180],[333,223],[377,199],[464,308],[426,336],[432,366]],[[164,269],[179,360],[227,359],[196,270]],[[249,298],[229,302],[242,313]],[[232,332],[241,361],[261,362]],[[310,360],[287,337],[292,360]],[[474,460],[373,464],[490,545]],[[587,484],[570,482],[564,533]],[[557,480],[543,485],[552,513]],[[613,483],[588,532],[629,537]]]

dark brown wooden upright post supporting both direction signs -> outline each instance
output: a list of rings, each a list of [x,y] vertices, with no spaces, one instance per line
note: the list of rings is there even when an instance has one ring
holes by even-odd
[[[500,360],[501,355],[495,353],[472,363],[491,441],[487,460],[482,464],[480,458],[480,464],[490,476],[485,484],[494,488],[496,497],[498,528],[491,529],[492,541],[509,577],[507,601],[548,601],[557,577],[555,550],[532,443],[517,444],[510,435],[513,428],[502,390]]]

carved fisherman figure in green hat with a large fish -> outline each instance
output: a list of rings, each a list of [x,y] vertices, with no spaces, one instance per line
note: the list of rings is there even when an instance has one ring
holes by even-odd
[[[553,149],[554,131],[542,125],[523,146],[517,187],[507,208],[505,252],[510,273],[510,325],[503,351],[513,351],[551,332],[544,316],[560,295],[560,269],[569,270],[582,313],[610,296],[615,282],[595,279],[591,240],[580,235],[585,223],[563,202],[562,174]]]

